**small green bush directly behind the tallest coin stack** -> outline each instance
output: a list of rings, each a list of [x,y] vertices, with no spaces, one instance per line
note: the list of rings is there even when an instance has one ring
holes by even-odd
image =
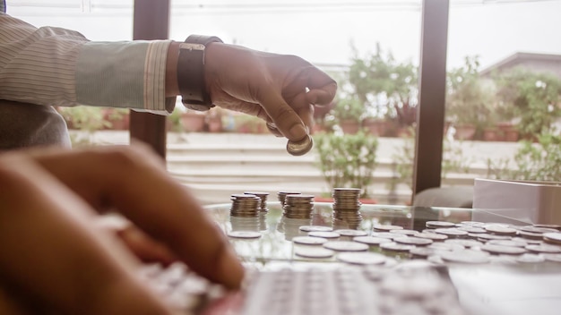
[[[340,135],[318,133],[314,136],[319,161],[316,164],[331,189],[353,187],[369,197],[376,163],[378,140],[364,132]]]

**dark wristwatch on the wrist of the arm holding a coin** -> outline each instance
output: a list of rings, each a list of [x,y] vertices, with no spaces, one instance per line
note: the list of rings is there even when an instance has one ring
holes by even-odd
[[[215,36],[191,35],[179,44],[177,85],[181,102],[187,108],[206,111],[214,106],[204,81],[204,50],[214,42],[222,40]]]

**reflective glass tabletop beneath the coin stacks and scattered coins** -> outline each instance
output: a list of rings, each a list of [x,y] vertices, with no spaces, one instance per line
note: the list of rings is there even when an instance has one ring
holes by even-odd
[[[341,234],[330,242],[355,242],[358,235],[379,238],[394,233],[384,226],[399,226],[402,235],[414,233],[434,233],[439,226],[431,223],[451,223],[457,226],[481,224],[498,226],[496,233],[487,231],[486,235],[500,236],[501,232],[517,231],[522,226],[531,226],[509,217],[502,217],[484,209],[450,209],[407,206],[370,205],[360,206],[358,220],[338,219],[334,216],[333,204],[315,202],[309,218],[290,218],[285,216],[278,201],[267,202],[267,211],[261,211],[256,217],[230,216],[231,203],[207,206],[209,214],[225,234],[236,234],[229,237],[229,242],[237,251],[240,260],[246,266],[271,270],[275,268],[353,268],[349,263],[337,259],[337,255],[326,258],[310,258],[298,252],[312,248],[302,244],[298,238],[308,236],[309,226],[326,226]],[[435,223],[436,222],[436,223]],[[492,225],[491,225],[492,223]],[[444,225],[444,224],[443,224]],[[435,228],[436,227],[436,228]],[[440,227],[440,228],[444,228]],[[455,227],[454,227],[455,228]],[[503,228],[503,230],[501,230]],[[349,232],[355,231],[353,232]],[[469,229],[468,229],[469,230]],[[493,230],[491,230],[493,231]],[[533,230],[529,230],[533,231]],[[480,231],[479,231],[480,232]],[[401,235],[401,236],[402,236]],[[241,237],[240,237],[241,236]],[[443,243],[462,244],[463,248],[481,251],[480,247],[493,239],[472,237],[473,234],[448,235],[446,241],[434,241],[436,247]],[[528,235],[526,235],[528,236]],[[509,240],[527,242],[525,245],[536,245],[532,250],[515,251],[514,253],[494,252],[489,247],[485,251],[485,261],[473,262],[459,260],[443,260],[438,255],[415,256],[410,251],[384,250],[379,245],[368,246],[367,251],[383,253],[388,261],[399,264],[401,261],[427,259],[434,263],[445,264],[450,272],[453,284],[458,290],[462,304],[469,306],[470,311],[477,314],[527,314],[539,310],[539,314],[557,314],[561,307],[561,246],[551,243],[539,243],[533,235],[524,239],[521,235],[510,235]],[[500,239],[501,237],[496,237]],[[449,240],[456,241],[449,241]],[[475,242],[475,243],[470,243]],[[545,245],[544,248],[539,246]],[[320,245],[321,246],[321,245]],[[417,246],[419,247],[419,246]],[[500,248],[499,248],[500,249]],[[557,252],[557,250],[558,252]],[[453,248],[446,248],[453,251]],[[539,250],[545,250],[540,252]],[[551,252],[547,252],[551,250]],[[419,251],[422,252],[422,251]],[[438,251],[442,252],[442,251]],[[545,257],[551,257],[546,260]],[[435,257],[436,256],[436,257]]]

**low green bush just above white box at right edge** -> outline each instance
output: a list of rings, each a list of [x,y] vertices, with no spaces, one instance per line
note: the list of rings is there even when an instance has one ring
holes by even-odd
[[[514,160],[488,158],[488,178],[561,182],[561,135],[542,132],[538,142],[522,140]]]

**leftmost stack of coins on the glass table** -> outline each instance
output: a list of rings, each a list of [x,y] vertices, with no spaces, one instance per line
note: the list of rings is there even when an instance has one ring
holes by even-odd
[[[231,195],[230,223],[232,231],[259,231],[261,198],[246,193]]]

